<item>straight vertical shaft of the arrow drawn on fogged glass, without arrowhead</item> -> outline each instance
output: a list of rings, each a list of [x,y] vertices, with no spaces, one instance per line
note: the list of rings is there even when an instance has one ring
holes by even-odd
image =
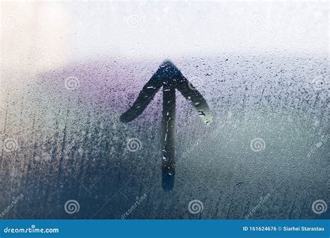
[[[175,174],[175,88],[163,86],[162,112],[162,185],[172,189]]]

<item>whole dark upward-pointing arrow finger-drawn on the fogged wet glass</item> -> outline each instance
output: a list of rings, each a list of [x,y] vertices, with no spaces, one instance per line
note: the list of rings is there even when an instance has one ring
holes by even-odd
[[[175,88],[193,104],[206,125],[212,123],[212,113],[201,93],[171,61],[166,60],[143,86],[134,104],[120,116],[120,120],[130,122],[137,118],[162,86],[162,186],[164,190],[171,190],[175,175]]]

